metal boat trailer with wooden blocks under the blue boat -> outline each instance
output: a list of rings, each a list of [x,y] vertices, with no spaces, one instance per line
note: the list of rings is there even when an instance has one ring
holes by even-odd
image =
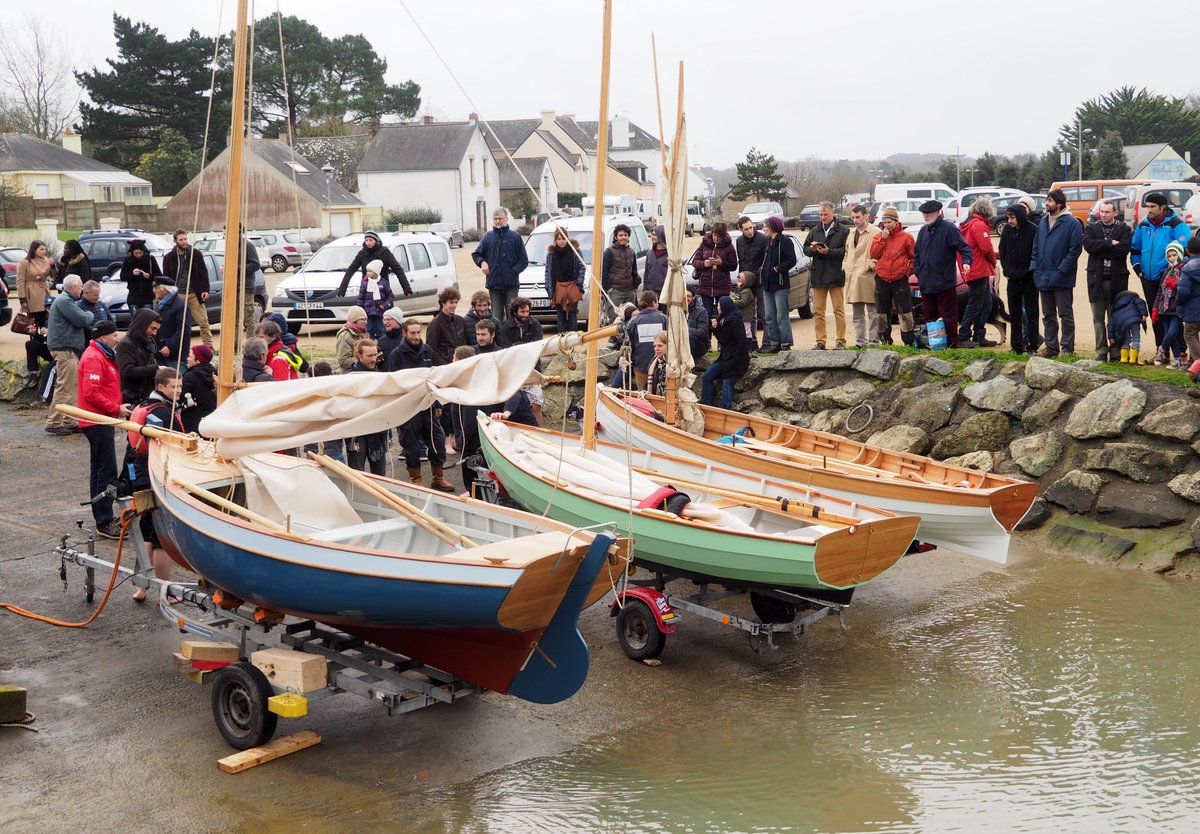
[[[127,509],[131,499],[119,498],[118,503]],[[77,524],[84,529],[82,521]],[[307,714],[308,702],[341,692],[377,701],[389,715],[395,715],[436,703],[454,703],[482,691],[475,684],[311,619],[283,617],[240,600],[222,607],[217,605],[220,592],[210,592],[203,582],[155,578],[136,522],[126,529],[124,547],[132,547],[136,553],[133,568],[97,556],[91,530],[82,547],[72,542],[71,534],[64,535],[54,551],[61,558],[59,577],[64,589],[67,564],[83,566],[88,602],[95,599],[96,571],[115,570],[136,587],[150,593],[157,590],[160,612],[181,634],[229,644],[227,652],[216,653],[224,655],[221,659],[174,656],[190,680],[212,679],[212,718],[221,736],[238,750],[265,744],[275,734],[280,718],[300,718]],[[167,601],[168,595],[182,601],[172,605]],[[324,658],[324,685],[299,692],[296,686],[272,683],[250,662],[256,652],[264,649],[295,649],[305,653],[301,655],[305,659]]]

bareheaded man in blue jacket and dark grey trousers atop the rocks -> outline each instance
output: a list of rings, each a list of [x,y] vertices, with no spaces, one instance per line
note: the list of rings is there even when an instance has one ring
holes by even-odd
[[[1042,335],[1045,344],[1039,356],[1057,356],[1058,323],[1062,322],[1062,352],[1075,352],[1075,270],[1084,251],[1084,227],[1067,208],[1062,188],[1046,194],[1046,214],[1033,236],[1033,286],[1042,299]]]

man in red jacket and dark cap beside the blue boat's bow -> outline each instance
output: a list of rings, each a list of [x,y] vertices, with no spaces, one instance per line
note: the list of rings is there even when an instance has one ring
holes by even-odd
[[[96,414],[112,418],[130,415],[130,406],[121,402],[121,376],[116,370],[116,343],[121,335],[112,322],[101,322],[91,329],[91,342],[79,360],[79,392],[76,404]],[[95,498],[116,480],[116,448],[112,426],[100,426],[79,420],[91,450],[88,497]],[[113,522],[113,499],[101,498],[91,505],[96,533],[116,539],[121,532]]]

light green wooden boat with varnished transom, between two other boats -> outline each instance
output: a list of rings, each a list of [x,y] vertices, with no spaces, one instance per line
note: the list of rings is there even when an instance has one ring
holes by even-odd
[[[511,498],[562,522],[613,522],[634,539],[638,564],[674,575],[738,587],[845,590],[894,565],[920,522],[817,492],[803,502],[776,500],[768,479],[738,480],[736,472],[612,443],[584,450],[578,437],[482,414],[479,434]],[[691,498],[682,515],[662,505],[637,506],[665,486]]]

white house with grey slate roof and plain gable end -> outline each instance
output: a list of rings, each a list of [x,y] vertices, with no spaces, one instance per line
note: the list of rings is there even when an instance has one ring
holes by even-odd
[[[382,125],[359,163],[359,197],[384,209],[433,209],[487,229],[500,204],[496,160],[475,121]]]

